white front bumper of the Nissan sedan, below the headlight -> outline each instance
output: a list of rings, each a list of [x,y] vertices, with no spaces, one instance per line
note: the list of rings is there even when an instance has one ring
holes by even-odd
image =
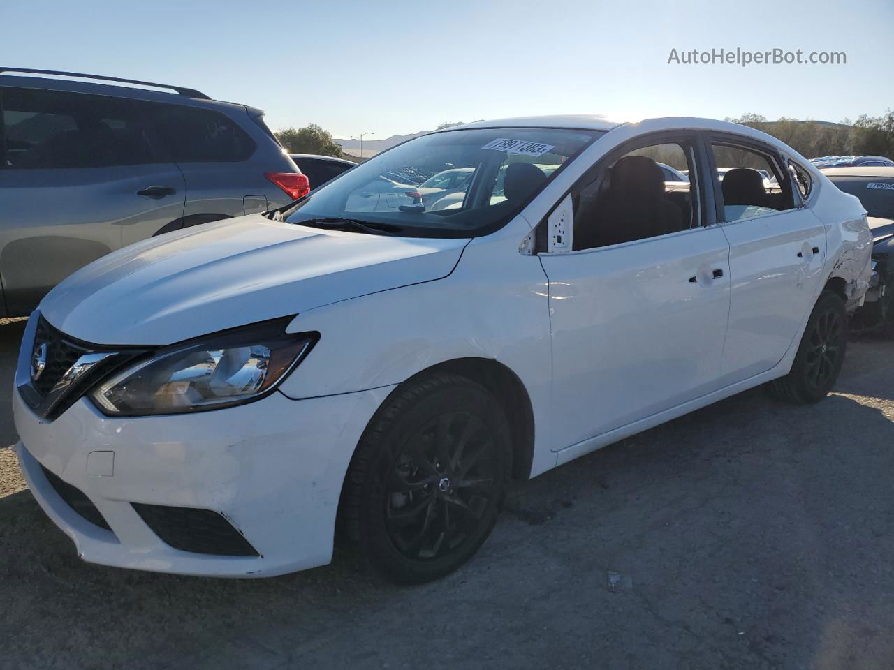
[[[130,418],[109,418],[81,398],[53,422],[13,389],[16,451],[40,507],[91,563],[220,577],[285,574],[331,560],[350,457],[391,389],[305,400],[275,392],[212,412]],[[111,530],[70,507],[45,469],[89,498]],[[259,556],[173,549],[133,503],[212,510]]]

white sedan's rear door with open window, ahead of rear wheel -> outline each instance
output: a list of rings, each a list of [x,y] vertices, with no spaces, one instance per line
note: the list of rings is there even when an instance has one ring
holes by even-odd
[[[770,370],[792,345],[820,288],[826,237],[772,147],[721,134],[707,142],[716,166],[730,168],[713,187],[732,280],[722,377],[735,383]],[[776,176],[778,192],[742,172],[757,169]]]

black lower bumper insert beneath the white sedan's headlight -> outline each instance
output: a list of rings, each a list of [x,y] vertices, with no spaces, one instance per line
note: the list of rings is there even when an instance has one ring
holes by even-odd
[[[259,556],[232,523],[210,509],[131,505],[148,527],[174,549],[217,556]]]

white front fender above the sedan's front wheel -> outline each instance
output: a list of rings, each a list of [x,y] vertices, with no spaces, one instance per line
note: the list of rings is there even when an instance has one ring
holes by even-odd
[[[527,390],[542,458],[554,465],[548,415],[552,384],[546,275],[536,256],[519,254],[530,231],[517,219],[474,239],[447,277],[356,297],[299,314],[288,330],[318,331],[308,357],[280,386],[290,398],[316,398],[400,383],[458,358],[505,364]]]

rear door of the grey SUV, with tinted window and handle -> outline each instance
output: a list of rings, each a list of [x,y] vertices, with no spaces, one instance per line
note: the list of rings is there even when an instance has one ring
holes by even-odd
[[[0,88],[0,279],[9,314],[180,219],[186,184],[126,98]],[[141,238],[140,238],[141,239]]]

